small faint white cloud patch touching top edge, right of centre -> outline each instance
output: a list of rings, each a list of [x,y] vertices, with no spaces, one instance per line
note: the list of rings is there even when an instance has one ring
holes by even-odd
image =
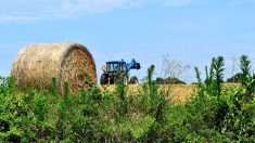
[[[169,6],[182,6],[182,5],[190,5],[190,4],[202,4],[205,3],[207,0],[163,0],[164,4]]]

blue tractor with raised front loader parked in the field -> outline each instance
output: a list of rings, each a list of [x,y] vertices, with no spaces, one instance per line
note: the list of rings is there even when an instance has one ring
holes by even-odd
[[[136,60],[132,58],[130,63],[122,61],[111,61],[106,62],[106,66],[102,67],[103,74],[100,78],[100,83],[103,84],[114,84],[118,81],[124,81],[128,77],[128,73],[131,69],[140,69],[141,65]],[[129,83],[138,83],[138,79],[132,77]]]

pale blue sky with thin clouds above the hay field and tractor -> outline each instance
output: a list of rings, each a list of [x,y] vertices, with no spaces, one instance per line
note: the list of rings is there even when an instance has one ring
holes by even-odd
[[[0,75],[31,43],[78,42],[92,53],[98,76],[106,61],[136,58],[145,76],[163,55],[202,72],[212,57],[246,54],[255,62],[254,0],[0,0]],[[99,78],[99,77],[98,77]]]

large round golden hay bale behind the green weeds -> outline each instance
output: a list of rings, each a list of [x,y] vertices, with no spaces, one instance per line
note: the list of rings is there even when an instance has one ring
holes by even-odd
[[[24,48],[13,63],[12,77],[21,88],[51,89],[52,78],[63,93],[64,82],[71,92],[78,92],[91,81],[97,83],[94,60],[78,43],[42,43]]]

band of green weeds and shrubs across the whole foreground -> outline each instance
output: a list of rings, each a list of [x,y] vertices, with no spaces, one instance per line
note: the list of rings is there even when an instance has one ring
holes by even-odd
[[[0,78],[0,142],[254,142],[254,74],[241,57],[242,86],[224,87],[224,58],[212,60],[206,78],[195,67],[197,89],[183,105],[168,101],[167,89],[148,69],[142,88],[127,92],[124,81],[115,91],[91,81],[80,93],[59,94],[15,87]]]

